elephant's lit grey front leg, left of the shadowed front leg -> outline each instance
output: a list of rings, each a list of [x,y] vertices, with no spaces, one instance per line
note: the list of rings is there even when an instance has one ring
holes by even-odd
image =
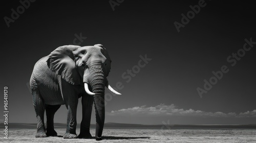
[[[67,118],[67,130],[63,135],[63,138],[77,138],[76,135],[76,110],[77,110],[78,98],[69,100],[69,104],[66,105],[68,109]]]

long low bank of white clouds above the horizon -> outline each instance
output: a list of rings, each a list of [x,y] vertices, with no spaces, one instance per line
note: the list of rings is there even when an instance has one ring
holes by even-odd
[[[160,104],[155,107],[146,107],[143,105],[141,107],[133,107],[127,109],[120,109],[116,111],[111,111],[108,115],[138,115],[138,116],[159,116],[159,115],[172,115],[172,116],[202,116],[202,117],[256,117],[256,110],[247,111],[244,113],[223,113],[223,112],[205,112],[201,110],[193,109],[178,109],[174,104],[164,105]]]

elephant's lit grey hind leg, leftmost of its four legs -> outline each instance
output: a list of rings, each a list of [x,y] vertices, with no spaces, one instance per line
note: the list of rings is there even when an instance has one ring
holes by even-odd
[[[37,133],[35,137],[47,137],[44,124],[45,104],[42,100],[37,85],[31,85],[33,105],[37,118]]]

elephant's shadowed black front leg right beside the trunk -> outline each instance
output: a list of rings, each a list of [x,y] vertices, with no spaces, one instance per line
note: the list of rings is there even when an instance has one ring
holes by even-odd
[[[92,138],[90,133],[91,115],[93,107],[93,97],[89,95],[82,96],[82,121],[80,126],[79,138]]]

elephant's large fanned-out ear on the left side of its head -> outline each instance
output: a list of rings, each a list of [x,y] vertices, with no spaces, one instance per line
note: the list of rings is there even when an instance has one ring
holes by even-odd
[[[47,65],[53,72],[74,85],[80,84],[79,72],[73,54],[73,51],[77,50],[78,47],[80,46],[60,46],[49,55],[47,60]]]

